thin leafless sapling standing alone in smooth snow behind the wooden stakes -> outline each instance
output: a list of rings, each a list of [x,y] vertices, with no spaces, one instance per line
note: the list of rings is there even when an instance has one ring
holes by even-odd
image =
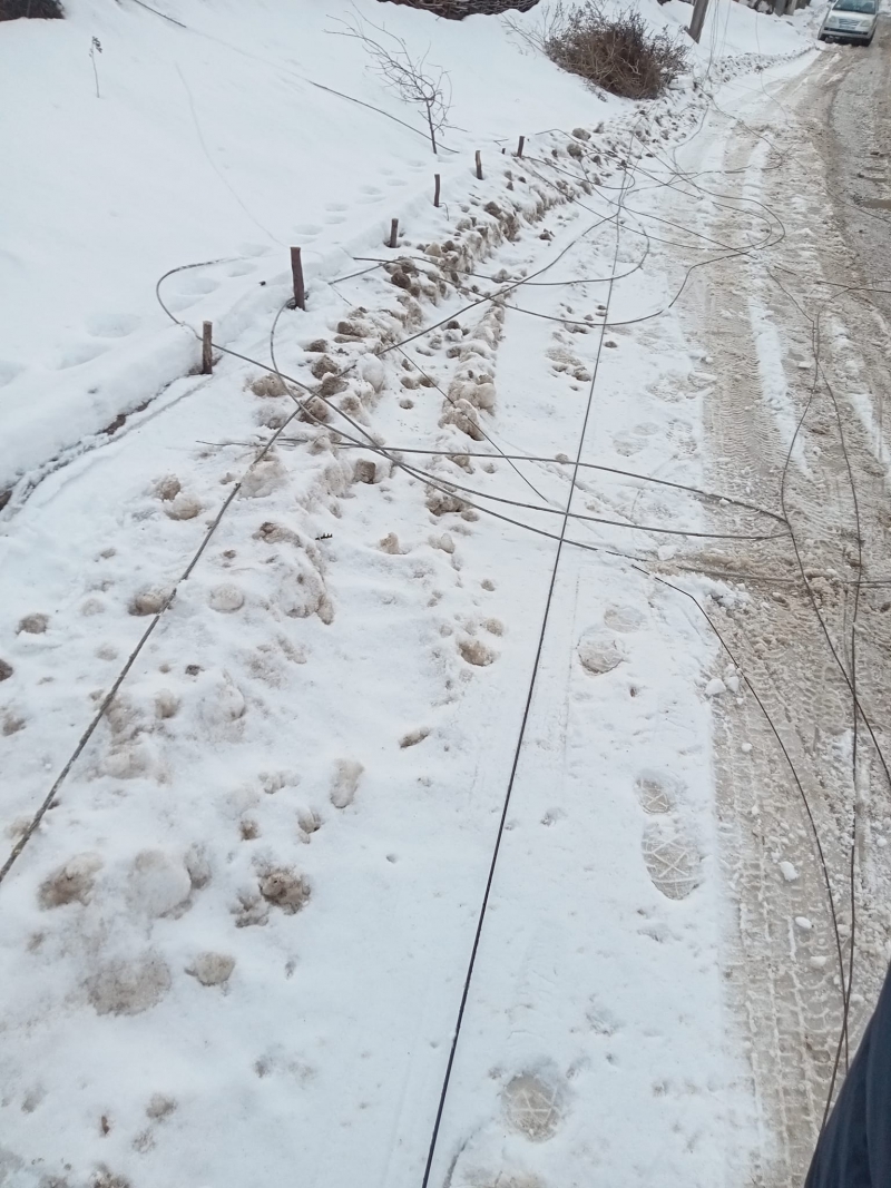
[[[403,102],[416,103],[422,108],[430,144],[434,152],[437,152],[436,137],[448,127],[451,107],[451,83],[446,71],[429,64],[426,53],[415,57],[402,37],[359,14],[349,20],[337,20],[336,24],[342,27],[329,32],[361,42],[372,61],[372,69],[384,80],[384,84]]]

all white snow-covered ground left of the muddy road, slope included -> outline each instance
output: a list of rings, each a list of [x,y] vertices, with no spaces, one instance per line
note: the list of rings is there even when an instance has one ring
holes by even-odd
[[[419,1184],[442,1105],[431,1184],[741,1186],[739,680],[650,569],[777,525],[682,489],[706,353],[634,323],[713,86],[810,15],[715,2],[708,82],[640,106],[367,0],[451,75],[434,159],[331,7],[0,26],[0,1184]]]

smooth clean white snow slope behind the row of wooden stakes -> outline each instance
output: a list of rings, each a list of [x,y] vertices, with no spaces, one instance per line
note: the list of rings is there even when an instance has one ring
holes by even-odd
[[[421,129],[418,113],[368,72],[360,45],[328,32],[349,6],[168,5],[187,29],[132,0],[68,7],[65,21],[0,30],[0,488],[188,369],[194,349],[154,301],[169,268],[232,261],[177,295],[178,311],[214,318],[225,341],[258,308],[258,283],[287,268],[290,245],[304,248],[310,278],[348,272],[350,254],[377,251],[390,220],[405,226],[432,192],[424,135],[398,122]],[[594,100],[499,20],[375,0],[356,11],[416,51],[432,39],[449,71],[453,153],[436,165],[446,201],[466,194],[476,148],[491,160],[522,134],[630,106]],[[652,5],[671,29],[689,12]],[[723,4],[699,53],[704,69],[713,53],[801,46],[785,24]]]

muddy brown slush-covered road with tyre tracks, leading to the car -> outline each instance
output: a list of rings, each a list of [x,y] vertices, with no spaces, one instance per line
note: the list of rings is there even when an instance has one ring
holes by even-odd
[[[718,607],[744,682],[716,699],[716,771],[737,917],[725,977],[748,1032],[752,1182],[765,1186],[801,1183],[891,953],[891,304],[862,290],[891,276],[890,69],[884,23],[871,50],[829,50],[794,82],[763,83],[715,113],[690,183],[712,196],[713,240],[738,241],[756,211],[765,230],[759,248],[700,270],[687,305],[708,350],[710,485],[790,529],[695,558],[748,595]]]

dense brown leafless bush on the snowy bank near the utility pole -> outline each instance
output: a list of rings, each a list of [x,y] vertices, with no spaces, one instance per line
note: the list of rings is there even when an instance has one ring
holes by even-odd
[[[627,99],[656,99],[687,64],[687,49],[652,32],[636,8],[607,14],[598,0],[557,4],[536,29],[512,29],[558,67]]]

